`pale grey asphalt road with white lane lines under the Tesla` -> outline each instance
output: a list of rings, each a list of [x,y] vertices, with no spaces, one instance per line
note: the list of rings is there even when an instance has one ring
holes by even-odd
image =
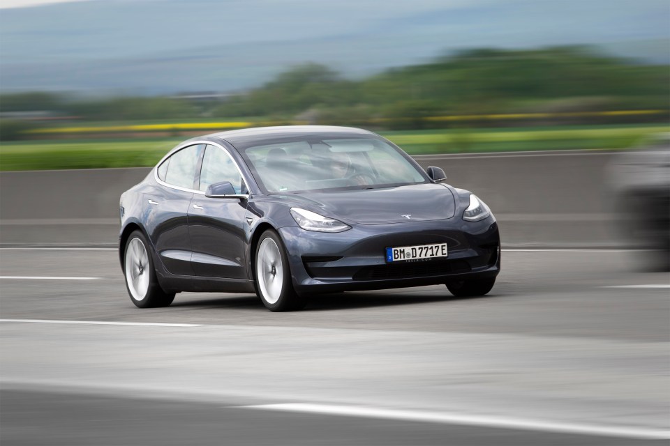
[[[670,275],[639,255],[507,250],[484,298],[274,314],[223,293],[140,310],[113,250],[0,249],[0,443],[667,444]]]

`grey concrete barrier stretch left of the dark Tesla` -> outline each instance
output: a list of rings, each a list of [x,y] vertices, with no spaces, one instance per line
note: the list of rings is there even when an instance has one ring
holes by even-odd
[[[0,173],[0,244],[116,245],[119,197],[151,169]]]

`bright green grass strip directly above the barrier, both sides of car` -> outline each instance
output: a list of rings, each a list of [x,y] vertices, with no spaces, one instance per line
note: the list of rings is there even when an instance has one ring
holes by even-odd
[[[411,155],[557,149],[620,149],[670,125],[582,126],[380,132]],[[153,166],[184,138],[3,142],[0,170]]]

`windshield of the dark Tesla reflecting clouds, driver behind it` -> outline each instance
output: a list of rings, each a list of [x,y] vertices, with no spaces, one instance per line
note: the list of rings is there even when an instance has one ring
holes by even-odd
[[[380,139],[281,142],[248,147],[244,155],[267,192],[427,182],[419,169]]]

